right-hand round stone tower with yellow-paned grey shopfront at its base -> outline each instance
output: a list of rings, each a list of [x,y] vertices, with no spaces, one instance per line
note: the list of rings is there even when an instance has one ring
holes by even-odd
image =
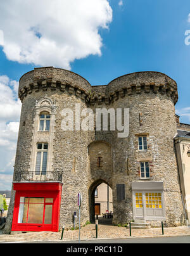
[[[176,82],[160,72],[137,72],[118,77],[108,86],[92,87],[91,107],[94,110],[101,104],[101,108],[114,109],[117,115],[117,110],[122,109],[123,125],[124,118],[127,119],[124,110],[129,113],[126,137],[119,138],[117,129],[96,132],[99,148],[103,146],[102,141],[110,144],[111,163],[108,164],[108,150],[105,150],[102,153],[105,167],[98,170],[93,167],[98,146],[96,155],[95,144],[89,151],[90,182],[96,186],[96,180],[103,179],[113,189],[114,224],[125,224],[132,219],[139,222],[143,219],[152,226],[159,226],[161,221],[167,221],[168,225],[183,223],[174,148],[177,99]],[[111,168],[105,172],[109,165]]]

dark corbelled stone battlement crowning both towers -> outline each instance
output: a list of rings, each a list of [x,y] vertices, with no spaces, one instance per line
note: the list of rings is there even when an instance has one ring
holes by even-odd
[[[177,103],[177,84],[165,74],[159,72],[137,72],[111,81],[107,86],[91,86],[87,80],[68,70],[60,68],[35,68],[20,79],[18,96],[23,101],[33,91],[60,90],[83,99],[87,105],[110,105],[119,98],[132,94],[167,94]]]

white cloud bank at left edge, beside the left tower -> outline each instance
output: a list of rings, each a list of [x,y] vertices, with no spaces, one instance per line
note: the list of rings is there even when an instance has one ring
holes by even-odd
[[[0,190],[11,188],[21,110],[17,94],[18,82],[0,76]]]

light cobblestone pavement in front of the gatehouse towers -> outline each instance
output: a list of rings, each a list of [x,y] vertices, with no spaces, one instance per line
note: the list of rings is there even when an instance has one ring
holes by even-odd
[[[167,227],[164,229],[164,236],[180,236],[190,235],[190,227]],[[132,237],[154,237],[162,236],[162,228],[152,229],[132,229]],[[98,227],[98,238],[115,239],[115,238],[129,238],[129,229],[126,227],[117,227],[100,224]],[[37,232],[37,233],[22,233],[22,234],[0,234],[0,243],[5,242],[19,242],[19,241],[58,241],[61,239],[61,231],[53,232]],[[79,230],[71,231],[65,230],[63,234],[63,241],[72,241],[79,239]],[[94,224],[89,224],[82,227],[80,232],[81,240],[96,240],[96,230]]]

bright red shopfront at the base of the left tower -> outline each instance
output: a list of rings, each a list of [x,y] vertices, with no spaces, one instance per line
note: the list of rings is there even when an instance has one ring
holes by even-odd
[[[62,184],[13,183],[12,231],[59,231]]]

